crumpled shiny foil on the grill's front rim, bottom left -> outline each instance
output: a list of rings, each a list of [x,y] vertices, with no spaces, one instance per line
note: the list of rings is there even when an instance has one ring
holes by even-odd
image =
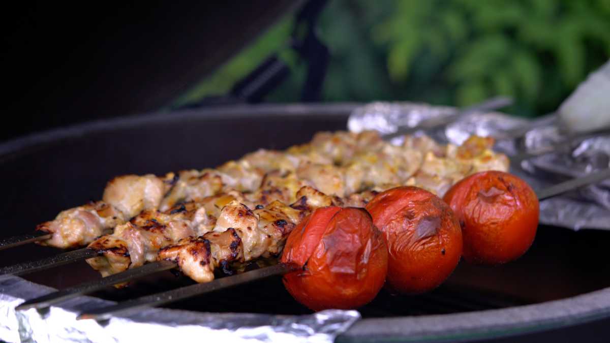
[[[24,299],[54,289],[17,276],[0,278],[0,340],[6,342],[332,342],[361,318],[357,311],[305,316],[205,313],[151,308],[104,322],[76,320],[112,301],[77,297],[44,311],[15,311]]]

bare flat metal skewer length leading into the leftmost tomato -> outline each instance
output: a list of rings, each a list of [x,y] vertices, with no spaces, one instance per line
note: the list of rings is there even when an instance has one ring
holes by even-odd
[[[268,278],[274,275],[284,275],[291,272],[293,269],[284,264],[276,264],[271,267],[264,267],[238,275],[227,276],[224,278],[210,281],[209,283],[192,284],[191,286],[173,289],[167,292],[147,295],[145,297],[136,298],[133,300],[123,301],[117,305],[107,306],[104,308],[93,309],[88,312],[79,314],[76,319],[95,319],[106,320],[117,314],[128,314],[137,309],[159,306],[173,301],[190,298],[195,295],[218,291],[228,287],[237,286],[239,284],[249,283],[251,281]]]

